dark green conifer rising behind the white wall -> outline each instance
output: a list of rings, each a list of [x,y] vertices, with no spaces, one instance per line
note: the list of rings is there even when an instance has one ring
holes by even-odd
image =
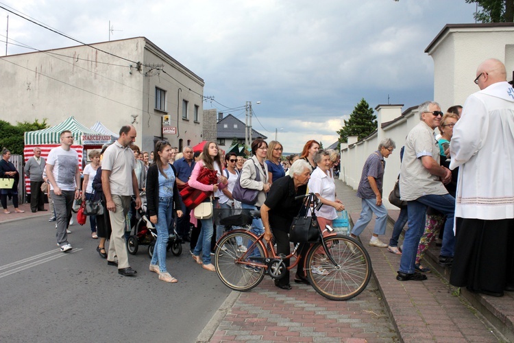
[[[374,132],[377,125],[373,108],[369,107],[369,104],[363,98],[350,114],[350,119],[345,120],[345,125],[337,131],[339,143],[347,143],[350,136],[357,136],[359,140],[363,139]]]

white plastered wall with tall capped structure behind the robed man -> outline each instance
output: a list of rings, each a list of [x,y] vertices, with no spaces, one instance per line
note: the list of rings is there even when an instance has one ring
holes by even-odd
[[[507,80],[513,80],[514,70],[514,23],[448,24],[432,40],[425,52],[434,60],[434,99],[445,111],[450,106],[464,105],[465,99],[479,91],[473,80],[476,69],[488,58],[505,63]],[[417,106],[378,105],[376,115],[378,129],[361,141],[348,137],[341,144],[341,173],[339,178],[357,189],[366,158],[377,150],[378,143],[391,138],[396,150],[386,161],[384,172],[384,204],[397,209],[387,200],[400,172],[400,148],[408,132],[419,123]],[[437,130],[437,129],[436,129]]]

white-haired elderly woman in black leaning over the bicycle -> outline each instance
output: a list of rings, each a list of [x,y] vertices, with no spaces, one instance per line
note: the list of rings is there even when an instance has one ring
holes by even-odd
[[[266,201],[260,207],[260,217],[265,230],[264,239],[271,241],[273,237],[277,244],[277,253],[284,255],[289,255],[291,252],[289,227],[293,222],[293,217],[297,215],[304,202],[303,198],[299,200],[295,198],[306,193],[311,169],[305,160],[297,160],[289,170],[288,177],[279,178],[273,182]],[[273,232],[271,229],[273,229]],[[304,244],[305,246],[306,244]],[[304,247],[299,250],[302,251]],[[302,256],[305,256],[305,254],[302,254]],[[284,261],[284,263],[289,267],[289,260]],[[308,284],[309,282],[304,276],[303,264],[303,261],[298,263],[295,282]],[[291,289],[289,271],[282,279],[275,280],[275,285],[282,289]]]

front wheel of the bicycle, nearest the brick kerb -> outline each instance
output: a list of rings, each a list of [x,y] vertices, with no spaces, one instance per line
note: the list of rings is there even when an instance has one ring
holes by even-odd
[[[326,256],[323,245],[315,244],[307,255],[306,274],[316,292],[331,300],[348,300],[363,292],[371,277],[371,259],[356,239],[338,234],[324,239],[337,263]]]

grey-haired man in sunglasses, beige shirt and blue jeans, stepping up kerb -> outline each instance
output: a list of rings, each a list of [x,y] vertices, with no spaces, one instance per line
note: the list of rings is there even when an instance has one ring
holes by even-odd
[[[408,133],[400,168],[400,196],[407,202],[408,230],[404,237],[400,270],[396,276],[398,281],[426,280],[426,275],[415,272],[414,264],[419,239],[425,230],[427,206],[446,215],[439,263],[443,266],[451,265],[454,255],[455,198],[444,187],[452,179],[452,172],[439,164],[439,144],[434,134],[443,113],[437,102],[424,102],[418,106],[418,111],[421,123]]]

